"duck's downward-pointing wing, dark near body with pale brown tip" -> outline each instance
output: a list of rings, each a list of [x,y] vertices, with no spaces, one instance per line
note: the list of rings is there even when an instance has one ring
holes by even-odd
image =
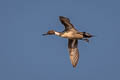
[[[69,56],[73,67],[76,67],[79,60],[79,51],[77,45],[78,45],[78,40],[68,39]]]

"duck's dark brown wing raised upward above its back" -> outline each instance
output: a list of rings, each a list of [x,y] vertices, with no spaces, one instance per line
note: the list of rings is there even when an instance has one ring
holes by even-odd
[[[70,19],[67,17],[59,16],[61,23],[65,26],[65,31],[69,29],[75,29],[74,26],[70,23]]]

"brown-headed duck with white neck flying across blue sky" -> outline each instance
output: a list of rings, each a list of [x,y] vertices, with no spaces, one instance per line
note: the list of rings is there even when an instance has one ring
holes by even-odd
[[[73,24],[71,24],[70,19],[64,16],[59,16],[60,22],[64,25],[65,29],[62,32],[57,32],[55,30],[49,30],[46,35],[56,35],[62,38],[68,39],[68,51],[72,66],[75,68],[79,60],[79,50],[78,50],[78,40],[83,40],[89,42],[89,38],[93,37],[90,33],[79,32]]]

